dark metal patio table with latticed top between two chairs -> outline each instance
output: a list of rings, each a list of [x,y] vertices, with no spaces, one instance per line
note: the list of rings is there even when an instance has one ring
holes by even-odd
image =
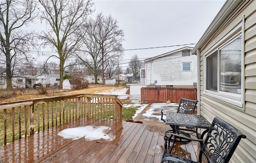
[[[202,139],[211,126],[211,124],[201,115],[180,113],[166,113],[165,124],[171,126],[184,126],[187,128],[196,128],[194,132],[196,133],[198,139]],[[206,129],[204,132],[202,132],[201,136],[199,136],[198,134],[198,128]],[[173,128],[173,132],[175,134],[175,128]]]

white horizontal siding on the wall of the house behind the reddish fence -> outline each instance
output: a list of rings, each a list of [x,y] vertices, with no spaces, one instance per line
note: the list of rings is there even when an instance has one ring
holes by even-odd
[[[190,71],[182,71],[182,63],[191,62]],[[182,51],[146,62],[146,85],[193,86],[197,82],[196,55],[182,57]]]

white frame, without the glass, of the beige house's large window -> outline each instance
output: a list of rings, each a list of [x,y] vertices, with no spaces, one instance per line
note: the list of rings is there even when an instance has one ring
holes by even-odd
[[[220,39],[214,47],[210,48],[206,53],[203,54],[203,62],[204,62],[204,72],[203,72],[203,94],[216,98],[218,100],[223,101],[226,104],[230,104],[232,106],[238,106],[236,108],[240,110],[244,110],[244,33],[242,32],[242,22],[238,24],[234,29],[232,29],[229,33],[227,33],[222,39]],[[242,54],[241,54],[241,94],[235,94],[231,92],[223,92],[220,91],[220,50],[226,47],[228,44],[232,43],[232,41],[238,39],[242,36]],[[207,57],[214,54],[217,51],[217,61],[218,61],[218,75],[217,75],[217,91],[206,89],[206,69],[207,69]]]

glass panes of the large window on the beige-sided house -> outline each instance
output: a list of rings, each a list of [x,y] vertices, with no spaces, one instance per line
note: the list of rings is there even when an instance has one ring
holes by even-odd
[[[241,39],[240,36],[206,57],[206,90],[241,94]]]

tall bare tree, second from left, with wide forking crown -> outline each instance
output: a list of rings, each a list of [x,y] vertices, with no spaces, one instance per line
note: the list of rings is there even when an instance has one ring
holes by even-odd
[[[40,38],[44,40],[42,45],[50,45],[56,48],[57,57],[60,60],[60,86],[62,86],[65,65],[70,56],[79,49],[80,39],[78,34],[80,27],[93,11],[91,0],[39,0],[42,5],[41,20],[50,25],[49,29],[42,32]],[[49,57],[49,58],[50,58]],[[48,59],[49,59],[48,58]],[[47,59],[47,60],[48,60]]]

